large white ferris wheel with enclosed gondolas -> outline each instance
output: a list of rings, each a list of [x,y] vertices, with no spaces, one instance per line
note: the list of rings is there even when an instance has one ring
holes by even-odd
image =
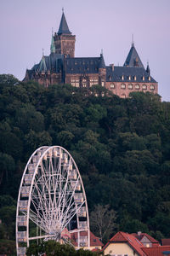
[[[20,183],[17,255],[26,255],[32,240],[70,242],[71,233],[77,234],[77,247],[89,248],[88,203],[80,172],[65,148],[37,148],[26,164]]]

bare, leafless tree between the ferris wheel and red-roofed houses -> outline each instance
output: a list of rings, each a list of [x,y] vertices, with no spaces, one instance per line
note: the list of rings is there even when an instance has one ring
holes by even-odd
[[[101,241],[107,241],[116,228],[116,212],[109,205],[94,206],[94,211],[90,214],[90,227]]]

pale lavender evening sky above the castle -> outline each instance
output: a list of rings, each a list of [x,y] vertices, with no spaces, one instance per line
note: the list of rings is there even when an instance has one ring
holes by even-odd
[[[122,66],[133,35],[162,101],[170,102],[170,0],[0,0],[0,73],[22,80],[42,49],[49,55],[62,8],[77,57],[99,56],[103,49],[106,65]]]

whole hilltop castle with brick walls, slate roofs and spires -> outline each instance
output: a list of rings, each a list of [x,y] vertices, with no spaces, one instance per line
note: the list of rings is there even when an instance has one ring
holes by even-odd
[[[126,98],[132,91],[158,92],[158,84],[150,76],[137,50],[132,47],[122,67],[111,64],[105,66],[103,54],[99,57],[75,57],[76,36],[72,35],[63,11],[59,31],[52,34],[50,55],[42,55],[42,60],[30,70],[26,70],[24,81],[34,80],[44,86],[50,84],[71,84],[89,88],[100,84],[117,96]]]

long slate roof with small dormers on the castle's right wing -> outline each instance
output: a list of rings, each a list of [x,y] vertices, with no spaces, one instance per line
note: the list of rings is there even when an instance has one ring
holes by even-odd
[[[122,80],[122,75],[124,80]],[[129,76],[131,76],[131,80],[129,80]],[[134,80],[134,76],[136,76],[136,80]],[[143,81],[144,76],[144,81]],[[114,67],[112,71],[112,67],[106,67],[106,81],[112,82],[135,82],[135,83],[156,83],[156,80],[150,77],[149,74],[145,71],[144,67]]]

